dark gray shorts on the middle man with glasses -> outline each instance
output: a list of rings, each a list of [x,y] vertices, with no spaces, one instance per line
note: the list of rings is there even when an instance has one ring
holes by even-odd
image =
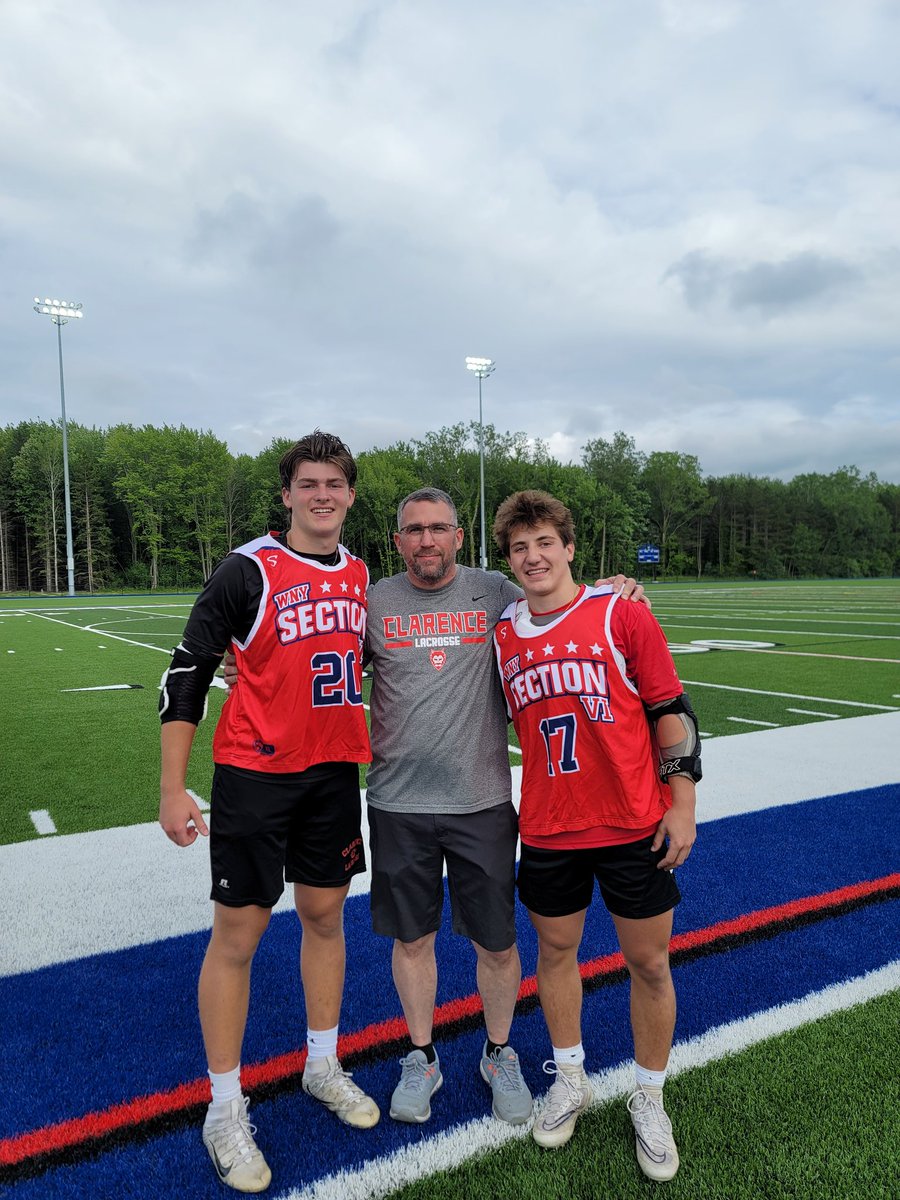
[[[415,942],[440,928],[444,862],[454,932],[486,950],[516,940],[516,840],[511,802],[445,816],[368,806],[372,928]]]

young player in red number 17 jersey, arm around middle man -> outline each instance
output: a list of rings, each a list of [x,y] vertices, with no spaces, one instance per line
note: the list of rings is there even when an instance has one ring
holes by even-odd
[[[494,540],[524,590],[494,630],[506,703],[522,746],[518,894],[538,931],[538,989],[556,1075],[534,1123],[564,1145],[587,1108],[577,953],[594,880],[631,978],[637,1160],[671,1180],[678,1151],[662,1104],[674,1031],[668,966],[673,871],[696,835],[697,724],[666,638],[642,605],[575,582],[569,510],[517,492]]]

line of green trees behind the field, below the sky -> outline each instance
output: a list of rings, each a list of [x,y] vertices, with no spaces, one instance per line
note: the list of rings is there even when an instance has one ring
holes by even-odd
[[[76,587],[192,589],[232,546],[284,526],[276,438],[233,455],[209,431],[68,426]],[[398,568],[397,500],[424,485],[456,500],[463,554],[479,556],[478,425],[364,450],[343,532],[373,577]],[[900,570],[900,486],[856,467],[798,475],[703,476],[694,455],[643,454],[623,432],[587,443],[578,463],[546,444],[485,426],[491,515],[510,492],[539,487],[572,510],[575,571],[635,574],[637,547],[660,548],[661,577],[889,576]],[[488,560],[498,562],[493,545]],[[59,422],[0,428],[0,592],[65,592],[66,532]]]

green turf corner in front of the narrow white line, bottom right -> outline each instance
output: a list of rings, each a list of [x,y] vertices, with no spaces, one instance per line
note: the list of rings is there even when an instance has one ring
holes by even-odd
[[[586,1112],[562,1150],[527,1138],[390,1195],[889,1200],[900,1178],[898,1055],[900,995],[892,992],[677,1075],[666,1109],[682,1168],[670,1183],[641,1175],[624,1102],[614,1100]]]

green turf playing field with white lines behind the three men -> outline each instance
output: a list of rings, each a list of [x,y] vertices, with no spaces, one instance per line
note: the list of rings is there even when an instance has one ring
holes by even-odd
[[[900,709],[898,581],[648,590],[707,737]],[[155,820],[160,678],[192,599],[0,599],[0,841],[46,836],[31,814],[59,833]],[[191,762],[204,799],[223,698]]]

